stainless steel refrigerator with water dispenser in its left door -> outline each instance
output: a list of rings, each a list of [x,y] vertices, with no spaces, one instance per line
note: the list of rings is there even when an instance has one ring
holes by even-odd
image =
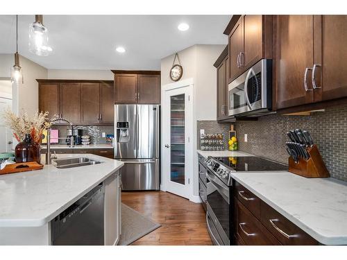
[[[160,105],[115,105],[115,159],[124,191],[159,190]]]

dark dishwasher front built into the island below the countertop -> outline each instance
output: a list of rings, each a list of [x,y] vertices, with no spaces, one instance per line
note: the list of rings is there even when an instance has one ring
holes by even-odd
[[[104,245],[103,184],[51,220],[52,245]]]

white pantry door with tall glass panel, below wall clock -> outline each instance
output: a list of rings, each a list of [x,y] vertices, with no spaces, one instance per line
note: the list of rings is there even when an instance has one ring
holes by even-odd
[[[173,85],[175,86],[175,85]],[[163,190],[192,196],[192,85],[164,89],[162,99]]]

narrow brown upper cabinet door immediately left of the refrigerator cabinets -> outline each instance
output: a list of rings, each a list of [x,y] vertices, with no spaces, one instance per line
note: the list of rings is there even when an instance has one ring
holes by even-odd
[[[100,83],[101,90],[101,123],[113,123],[115,121],[115,94],[113,83]]]

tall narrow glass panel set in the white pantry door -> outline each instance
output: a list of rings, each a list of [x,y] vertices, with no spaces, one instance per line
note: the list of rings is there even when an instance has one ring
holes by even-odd
[[[170,98],[170,180],[185,184],[185,94]]]

